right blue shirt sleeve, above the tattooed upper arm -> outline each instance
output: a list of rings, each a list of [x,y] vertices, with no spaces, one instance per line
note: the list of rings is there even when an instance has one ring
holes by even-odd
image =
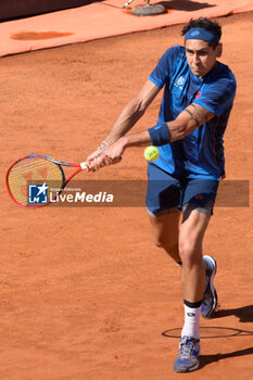
[[[236,87],[233,77],[220,77],[204,84],[200,98],[194,99],[193,102],[219,117],[224,112],[232,107]]]

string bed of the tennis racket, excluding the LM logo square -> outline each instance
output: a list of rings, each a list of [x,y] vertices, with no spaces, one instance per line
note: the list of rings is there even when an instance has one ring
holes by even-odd
[[[14,200],[28,205],[28,185],[47,183],[52,188],[52,197],[63,186],[64,174],[61,166],[42,157],[26,157],[18,161],[9,172],[8,186]]]

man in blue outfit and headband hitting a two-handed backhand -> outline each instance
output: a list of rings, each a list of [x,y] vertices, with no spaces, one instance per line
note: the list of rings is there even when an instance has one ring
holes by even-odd
[[[225,177],[223,136],[236,93],[231,71],[217,61],[223,50],[220,26],[207,18],[191,20],[182,35],[185,47],[165,51],[139,94],[88,157],[89,170],[97,170],[117,163],[128,147],[159,147],[160,157],[148,164],[147,206],[155,244],[182,268],[185,325],[174,364],[178,372],[199,367],[200,315],[210,318],[217,305],[216,262],[203,257],[202,241],[219,179]],[[127,135],[162,88],[157,125]]]

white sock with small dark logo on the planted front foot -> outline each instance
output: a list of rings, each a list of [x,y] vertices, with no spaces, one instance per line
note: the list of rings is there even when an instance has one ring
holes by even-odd
[[[199,307],[189,307],[184,304],[185,307],[185,325],[181,330],[181,337],[192,337],[200,339],[200,309]]]

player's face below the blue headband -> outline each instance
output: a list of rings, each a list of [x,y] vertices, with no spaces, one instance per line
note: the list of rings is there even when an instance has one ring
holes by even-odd
[[[215,49],[200,39],[188,39],[186,41],[186,55],[192,74],[203,78],[215,67],[216,59],[222,55],[222,43]]]

